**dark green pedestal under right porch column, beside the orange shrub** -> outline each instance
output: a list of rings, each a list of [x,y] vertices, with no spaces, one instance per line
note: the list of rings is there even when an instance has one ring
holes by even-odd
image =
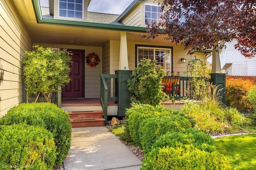
[[[226,74],[225,73],[211,73],[212,83],[216,86],[217,92],[220,92],[221,102],[226,104]]]

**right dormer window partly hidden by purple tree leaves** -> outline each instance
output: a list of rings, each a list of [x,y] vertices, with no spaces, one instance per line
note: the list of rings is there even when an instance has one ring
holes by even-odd
[[[163,12],[161,12],[161,7],[158,5],[150,5],[145,4],[145,25],[151,24],[152,22],[161,21],[161,16]]]

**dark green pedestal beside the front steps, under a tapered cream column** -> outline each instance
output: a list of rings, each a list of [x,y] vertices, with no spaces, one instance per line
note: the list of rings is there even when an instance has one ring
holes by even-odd
[[[118,116],[125,116],[126,108],[131,107],[132,93],[128,91],[127,80],[130,80],[132,70],[116,70],[116,95],[118,96]]]

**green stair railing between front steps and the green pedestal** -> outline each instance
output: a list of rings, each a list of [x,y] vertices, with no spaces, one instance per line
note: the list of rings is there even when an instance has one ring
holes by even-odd
[[[108,122],[108,101],[118,101],[116,96],[117,74],[100,74],[100,104],[103,110],[105,125]]]

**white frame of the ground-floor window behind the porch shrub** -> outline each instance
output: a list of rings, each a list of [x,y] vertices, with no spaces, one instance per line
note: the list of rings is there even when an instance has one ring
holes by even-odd
[[[162,64],[161,64],[161,62],[158,62],[157,64],[160,64],[160,65],[162,65],[163,67],[164,67],[164,70],[167,72],[167,71],[172,71],[172,48],[164,48],[164,47],[146,47],[146,46],[137,46],[137,56],[136,56],[136,61],[137,61],[137,63],[140,63],[140,61],[139,61],[139,49],[153,49],[153,59],[156,59],[156,50],[164,50],[164,51],[169,51],[169,54],[170,54],[170,56],[169,56],[169,61],[170,61],[170,63],[168,63],[168,62],[162,62]],[[144,56],[144,55],[143,55]],[[165,56],[165,57],[168,57],[168,56]],[[143,57],[144,58],[144,57]],[[168,68],[168,64],[170,64],[169,65],[169,68]]]

